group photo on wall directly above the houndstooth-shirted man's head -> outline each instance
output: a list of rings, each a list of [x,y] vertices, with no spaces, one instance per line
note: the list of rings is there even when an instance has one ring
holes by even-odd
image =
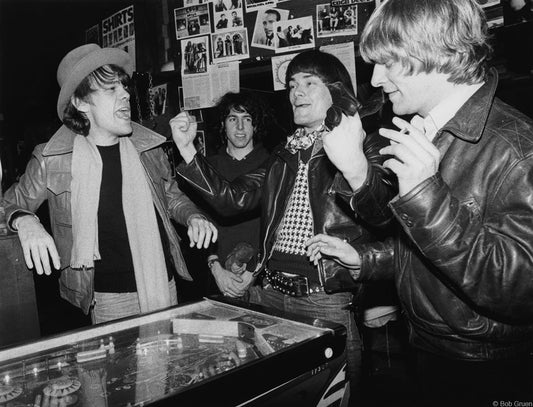
[[[318,38],[337,35],[357,35],[357,5],[335,6],[328,3],[316,6]]]

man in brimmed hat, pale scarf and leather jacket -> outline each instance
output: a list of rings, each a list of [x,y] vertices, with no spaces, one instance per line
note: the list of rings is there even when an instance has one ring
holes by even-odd
[[[119,49],[70,51],[57,70],[63,126],[4,197],[28,267],[50,274],[51,259],[61,296],[92,310],[93,323],[177,303],[174,271],[192,278],[171,217],[188,226],[191,247],[217,238],[172,179],[158,148],[166,139],[131,121],[131,71]],[[55,241],[34,215],[46,199]]]

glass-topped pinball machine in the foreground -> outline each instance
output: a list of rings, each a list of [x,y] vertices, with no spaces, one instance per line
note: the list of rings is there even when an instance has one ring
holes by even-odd
[[[345,340],[204,299],[0,349],[0,406],[343,406]]]

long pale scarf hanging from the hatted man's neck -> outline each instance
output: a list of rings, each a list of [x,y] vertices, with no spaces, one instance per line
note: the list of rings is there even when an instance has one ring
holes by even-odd
[[[168,276],[149,180],[129,137],[121,137],[122,205],[141,312],[170,306]],[[94,268],[98,250],[98,204],[102,159],[96,145],[77,135],[72,152],[73,269]]]

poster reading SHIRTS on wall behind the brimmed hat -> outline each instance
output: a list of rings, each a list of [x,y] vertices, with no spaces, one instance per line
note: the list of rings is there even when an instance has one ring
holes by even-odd
[[[133,5],[102,20],[102,47],[126,51],[135,70],[135,24]]]

